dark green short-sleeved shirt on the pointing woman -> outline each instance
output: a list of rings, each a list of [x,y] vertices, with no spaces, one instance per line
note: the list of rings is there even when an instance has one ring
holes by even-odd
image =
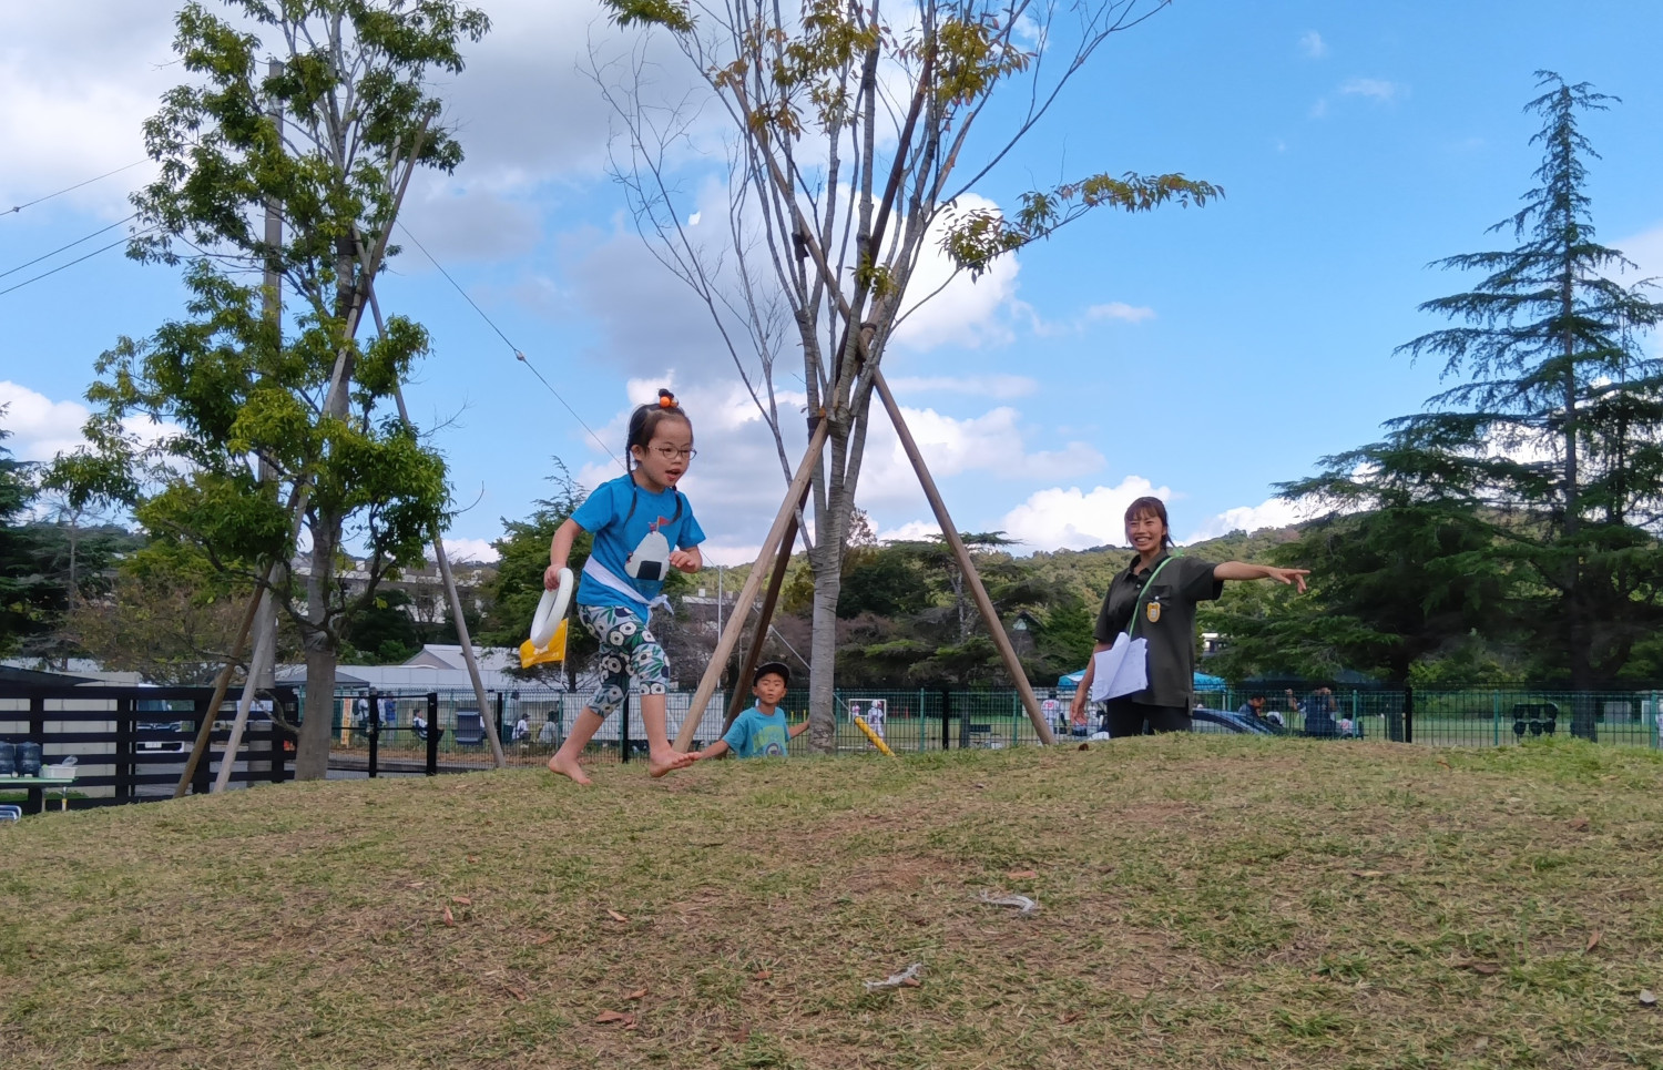
[[[1098,614],[1098,642],[1114,642],[1126,631],[1149,574],[1169,557],[1171,554],[1161,554],[1142,571],[1137,571],[1137,557],[1133,557],[1126,571],[1114,576],[1109,592],[1103,596],[1103,612]],[[1149,689],[1126,696],[1133,702],[1186,711],[1191,707],[1196,684],[1196,602],[1209,602],[1224,594],[1224,581],[1212,577],[1212,567],[1211,561],[1171,557],[1171,564],[1156,576],[1137,611],[1137,631],[1133,632],[1133,637],[1149,641]]]

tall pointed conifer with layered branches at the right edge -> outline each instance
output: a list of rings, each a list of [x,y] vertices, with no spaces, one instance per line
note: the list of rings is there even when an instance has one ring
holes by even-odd
[[[1505,572],[1542,671],[1588,691],[1618,679],[1635,644],[1663,624],[1663,361],[1641,344],[1663,306],[1645,283],[1611,278],[1633,265],[1595,241],[1587,161],[1596,153],[1578,118],[1610,98],[1538,77],[1545,92],[1527,105],[1543,120],[1532,138],[1543,150],[1538,185],[1492,228],[1520,245],[1438,261],[1482,278],[1422,305],[1460,326],[1402,346],[1442,359],[1458,383],[1429,411],[1387,424],[1385,441],[1329,458],[1327,471],[1285,489],[1477,526],[1487,537],[1422,541],[1417,591],[1429,606],[1448,604],[1442,579]],[[1593,724],[1583,702],[1572,727],[1591,737]]]

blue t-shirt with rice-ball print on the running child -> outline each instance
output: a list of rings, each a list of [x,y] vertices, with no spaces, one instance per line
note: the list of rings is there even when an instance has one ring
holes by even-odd
[[[630,513],[632,504],[634,513]],[[674,488],[654,494],[632,476],[619,476],[597,486],[595,493],[572,513],[572,521],[595,536],[590,557],[640,594],[639,601],[630,599],[597,582],[594,576],[584,576],[577,584],[579,606],[624,606],[642,612],[647,602],[664,591],[669,576],[669,564],[662,567],[659,579],[637,579],[629,574],[629,557],[642,541],[655,531],[665,537],[670,549],[692,549],[705,541],[705,533],[693,519],[693,506],[685,494]]]

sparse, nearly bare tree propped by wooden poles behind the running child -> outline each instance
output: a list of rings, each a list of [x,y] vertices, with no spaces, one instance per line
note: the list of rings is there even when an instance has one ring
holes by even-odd
[[[926,245],[975,276],[1094,208],[1199,205],[1219,190],[1182,175],[1099,173],[1023,193],[1008,213],[961,203],[1098,48],[1159,0],[1068,7],[911,0],[881,10],[860,0],[788,7],[607,0],[607,7],[620,25],[674,38],[730,135],[732,241],[708,245],[682,223],[690,205],[674,171],[693,111],[707,102],[660,107],[649,98],[655,78],[640,65],[595,65],[630,145],[619,178],[642,235],[710,311],[773,431],[787,479],[795,466],[772,379],[782,353],[803,361],[812,423],[828,421],[810,491],[808,691],[810,741],[830,750],[843,546],[870,399],[896,326],[931,296],[913,291]],[[1043,42],[1043,53],[1029,42]],[[792,596],[800,601],[797,591]]]

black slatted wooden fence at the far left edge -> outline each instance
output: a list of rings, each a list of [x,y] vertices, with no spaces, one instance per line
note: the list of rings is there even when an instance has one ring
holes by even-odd
[[[190,757],[203,717],[210,716],[211,687],[101,687],[101,686],[0,686],[0,739],[42,744],[43,765],[73,755],[75,785],[13,787],[0,777],[0,795],[27,794],[25,812],[38,814],[50,799],[65,799],[68,809],[143,802],[173,795]],[[276,711],[288,724],[298,722],[296,694],[279,687]],[[218,772],[236,717],[236,696],[215,716],[208,755],[198,762],[191,790],[206,794]],[[243,731],[234,784],[289,779],[294,754],[293,732],[269,712],[253,712]]]

